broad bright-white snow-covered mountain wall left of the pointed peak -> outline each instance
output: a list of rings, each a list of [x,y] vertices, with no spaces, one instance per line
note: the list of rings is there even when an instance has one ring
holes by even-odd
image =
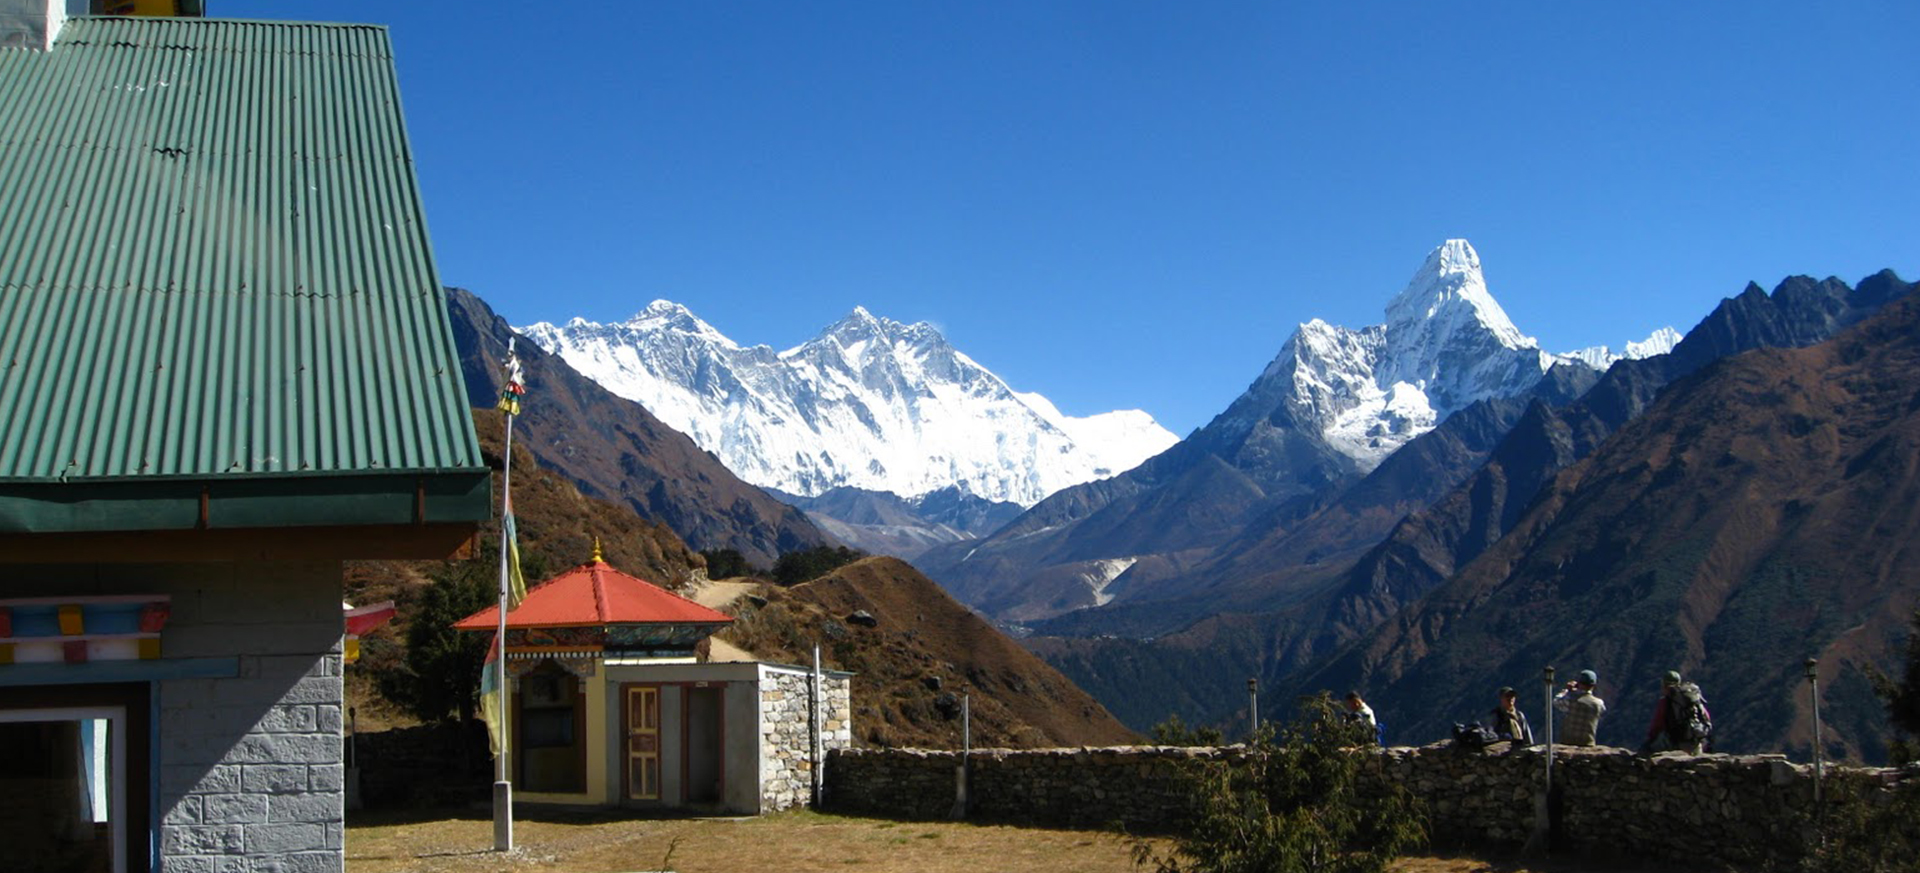
[[[670,301],[626,322],[574,319],[522,332],[747,482],[803,497],[960,489],[1029,507],[1175,441],[1140,411],[1066,416],[1014,391],[931,324],[858,307],[787,351],[741,347]]]

